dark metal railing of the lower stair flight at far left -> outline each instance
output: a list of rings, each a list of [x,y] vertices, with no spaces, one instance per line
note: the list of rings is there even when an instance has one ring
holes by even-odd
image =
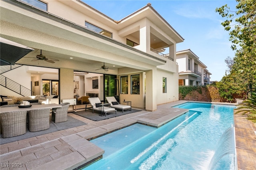
[[[15,81],[12,81],[11,79],[8,79],[4,75],[0,75],[0,85],[6,87],[7,89],[10,89],[11,91],[14,91],[15,93],[18,93],[22,96],[31,96],[32,91],[19,83],[16,83]]]

